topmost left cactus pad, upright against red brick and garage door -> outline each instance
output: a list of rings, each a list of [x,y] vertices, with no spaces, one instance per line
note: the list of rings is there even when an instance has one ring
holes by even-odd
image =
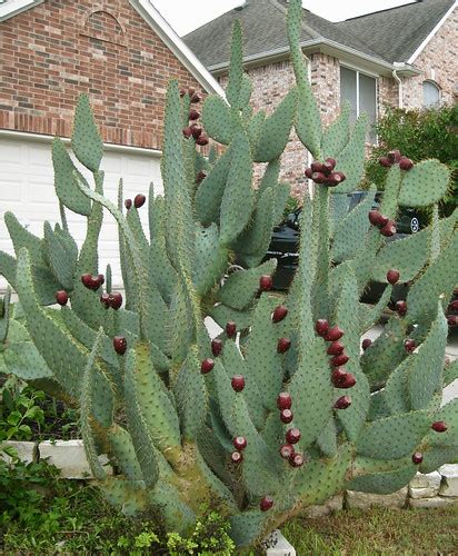
[[[89,97],[80,95],[74,112],[71,148],[78,160],[91,171],[97,171],[103,156],[103,143],[97,129]]]

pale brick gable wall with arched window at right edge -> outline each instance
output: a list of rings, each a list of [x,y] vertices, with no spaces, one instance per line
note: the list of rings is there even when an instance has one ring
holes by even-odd
[[[422,82],[427,79],[439,86],[441,102],[455,102],[454,90],[456,90],[458,79],[457,43],[458,9],[447,19],[415,60],[415,67],[420,69],[422,75],[405,81],[405,108],[422,107]]]

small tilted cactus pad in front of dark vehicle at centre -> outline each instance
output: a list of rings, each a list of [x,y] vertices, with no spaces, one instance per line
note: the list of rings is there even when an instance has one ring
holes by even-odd
[[[259,279],[263,275],[271,276],[277,268],[277,259],[269,259],[259,267],[232,272],[219,290],[217,300],[242,310],[248,307],[259,292]]]

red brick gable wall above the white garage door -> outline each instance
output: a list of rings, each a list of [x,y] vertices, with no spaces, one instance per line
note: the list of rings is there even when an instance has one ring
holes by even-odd
[[[69,137],[90,95],[104,141],[160,148],[170,78],[200,89],[126,0],[48,0],[0,23],[0,129]]]

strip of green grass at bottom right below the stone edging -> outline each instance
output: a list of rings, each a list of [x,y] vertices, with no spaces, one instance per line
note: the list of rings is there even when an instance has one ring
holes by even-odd
[[[282,528],[298,556],[458,555],[458,506],[346,510]]]

